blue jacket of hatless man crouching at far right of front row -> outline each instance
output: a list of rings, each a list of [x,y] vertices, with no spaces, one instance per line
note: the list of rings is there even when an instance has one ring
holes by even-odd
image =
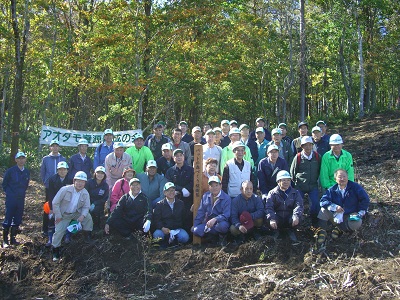
[[[347,183],[344,192],[344,198],[339,190],[339,186],[334,186],[327,189],[325,195],[320,200],[321,207],[328,209],[331,204],[340,205],[344,209],[344,214],[357,213],[360,210],[368,210],[369,196],[361,185],[350,181]]]

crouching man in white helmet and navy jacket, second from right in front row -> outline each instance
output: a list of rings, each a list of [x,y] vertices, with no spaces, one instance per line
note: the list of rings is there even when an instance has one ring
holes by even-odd
[[[278,186],[268,193],[265,211],[269,226],[278,237],[281,229],[288,229],[287,233],[292,241],[297,241],[292,229],[296,228],[303,215],[303,198],[299,191],[292,188],[291,176],[287,171],[279,171],[276,175]]]

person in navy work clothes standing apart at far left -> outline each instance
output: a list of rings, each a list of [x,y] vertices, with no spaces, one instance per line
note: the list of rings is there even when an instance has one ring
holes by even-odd
[[[9,168],[4,174],[2,187],[6,194],[5,217],[3,221],[3,248],[18,245],[16,240],[19,225],[24,214],[25,194],[29,186],[30,172],[25,168],[26,154],[18,152],[15,155],[15,166]],[[11,228],[10,241],[8,235]]]

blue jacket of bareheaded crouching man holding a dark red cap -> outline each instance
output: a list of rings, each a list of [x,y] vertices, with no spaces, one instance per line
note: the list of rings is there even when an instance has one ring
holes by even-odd
[[[248,211],[253,220],[264,217],[264,204],[260,197],[253,194],[249,199],[245,199],[242,194],[232,200],[231,204],[231,223],[239,228],[240,215],[242,212]]]

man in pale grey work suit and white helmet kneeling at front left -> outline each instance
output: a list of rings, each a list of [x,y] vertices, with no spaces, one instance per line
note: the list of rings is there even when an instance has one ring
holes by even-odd
[[[83,171],[76,172],[73,184],[62,187],[53,199],[55,216],[55,232],[53,236],[53,261],[60,259],[61,240],[72,220],[82,225],[86,240],[90,241],[93,220],[89,213],[90,196],[85,189],[87,175]]]

